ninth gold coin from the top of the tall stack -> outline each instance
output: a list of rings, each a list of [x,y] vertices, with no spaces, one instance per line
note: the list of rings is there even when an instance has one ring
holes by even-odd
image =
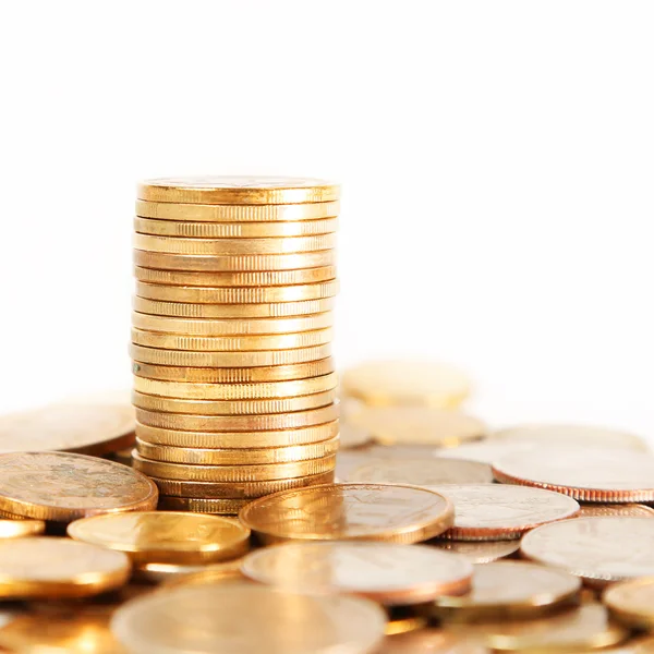
[[[134,312],[132,325],[148,331],[183,334],[184,336],[247,336],[281,335],[295,332],[314,332],[334,325],[334,313],[301,316],[296,318],[255,318],[254,320],[201,318],[169,318],[166,316],[148,316]]]

